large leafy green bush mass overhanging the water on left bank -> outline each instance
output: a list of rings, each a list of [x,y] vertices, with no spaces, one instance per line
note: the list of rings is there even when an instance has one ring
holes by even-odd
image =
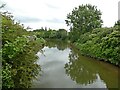
[[[14,21],[8,12],[2,17],[2,88],[29,88],[37,76],[40,66],[36,53],[45,40],[28,32],[23,25]]]

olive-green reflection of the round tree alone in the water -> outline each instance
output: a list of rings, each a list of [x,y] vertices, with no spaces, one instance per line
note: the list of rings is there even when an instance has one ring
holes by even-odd
[[[78,84],[91,84],[97,79],[97,76],[95,72],[90,70],[87,64],[82,61],[78,55],[71,51],[69,54],[69,62],[65,64],[66,74]]]

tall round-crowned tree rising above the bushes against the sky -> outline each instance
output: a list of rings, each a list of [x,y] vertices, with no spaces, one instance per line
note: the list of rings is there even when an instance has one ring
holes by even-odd
[[[65,21],[70,26],[70,35],[73,40],[77,40],[83,33],[102,26],[100,10],[90,4],[75,7]]]

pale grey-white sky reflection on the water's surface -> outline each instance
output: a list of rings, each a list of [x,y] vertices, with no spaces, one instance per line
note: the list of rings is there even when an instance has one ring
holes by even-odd
[[[69,62],[69,48],[58,50],[55,48],[44,47],[43,53],[38,52],[38,64],[42,68],[42,76],[34,81],[33,87],[36,88],[106,88],[104,82],[100,79],[99,74],[97,78],[90,84],[77,84],[67,76],[65,72],[65,64]]]

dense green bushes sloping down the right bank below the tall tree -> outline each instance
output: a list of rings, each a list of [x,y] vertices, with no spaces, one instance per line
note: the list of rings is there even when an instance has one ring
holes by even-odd
[[[115,65],[120,63],[120,29],[97,28],[81,35],[76,46],[91,57],[103,59]]]

